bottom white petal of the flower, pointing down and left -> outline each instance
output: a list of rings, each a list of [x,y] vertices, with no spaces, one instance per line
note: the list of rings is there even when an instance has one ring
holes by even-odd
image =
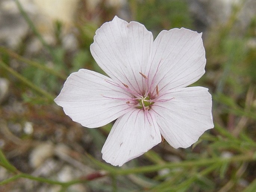
[[[161,142],[154,115],[136,109],[118,118],[102,148],[102,158],[122,166]]]

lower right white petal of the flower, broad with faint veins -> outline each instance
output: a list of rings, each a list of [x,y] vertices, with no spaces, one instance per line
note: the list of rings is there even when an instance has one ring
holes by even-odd
[[[155,102],[152,111],[162,136],[174,148],[187,148],[204,131],[213,128],[212,97],[204,87],[186,87],[171,90]]]

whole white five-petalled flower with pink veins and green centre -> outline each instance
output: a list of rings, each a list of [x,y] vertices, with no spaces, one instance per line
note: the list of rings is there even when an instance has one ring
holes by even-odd
[[[55,102],[84,127],[117,119],[102,158],[123,165],[161,142],[187,148],[213,128],[212,97],[186,87],[204,74],[201,34],[174,28],[152,33],[138,22],[115,18],[103,24],[90,46],[109,77],[87,69],[72,73]]]

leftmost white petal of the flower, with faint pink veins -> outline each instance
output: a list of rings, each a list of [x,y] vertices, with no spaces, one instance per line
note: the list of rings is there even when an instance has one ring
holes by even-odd
[[[129,98],[129,94],[108,81],[112,80],[105,75],[80,69],[67,78],[54,101],[73,121],[84,127],[104,126],[130,109],[126,100],[113,99]]]

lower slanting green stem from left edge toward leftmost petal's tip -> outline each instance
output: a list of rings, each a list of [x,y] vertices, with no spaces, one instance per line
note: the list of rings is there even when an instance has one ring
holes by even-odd
[[[53,101],[53,99],[55,98],[54,96],[52,96],[50,93],[47,93],[46,91],[44,91],[43,89],[41,89],[40,87],[37,87],[36,85],[34,85],[31,81],[27,80],[25,77],[23,77],[21,74],[19,74],[18,72],[14,71],[12,68],[10,68],[8,65],[6,65],[3,61],[0,60],[0,67],[4,68],[6,71],[8,71],[10,74],[12,74],[13,76],[15,76],[16,78],[18,78],[20,81],[22,81],[22,83],[26,84],[28,87],[30,87],[31,89],[35,90],[36,92],[40,93],[41,95],[44,95],[45,97],[47,97],[48,100]]]

